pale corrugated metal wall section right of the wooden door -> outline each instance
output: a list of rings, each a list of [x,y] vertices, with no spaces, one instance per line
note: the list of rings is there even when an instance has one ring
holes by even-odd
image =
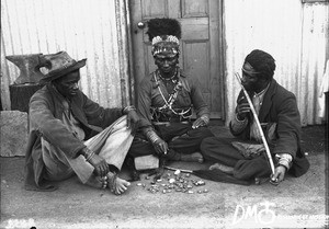
[[[328,59],[328,2],[225,0],[224,5],[226,121],[240,90],[234,72],[240,72],[252,49],[263,49],[276,60],[274,78],[297,96],[303,125],[320,124],[317,96]]]

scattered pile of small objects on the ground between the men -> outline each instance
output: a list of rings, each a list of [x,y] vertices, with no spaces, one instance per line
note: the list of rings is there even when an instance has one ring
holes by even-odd
[[[145,180],[150,180],[150,178],[146,175]],[[141,186],[150,193],[208,193],[208,190],[204,188],[205,182],[203,180],[191,179],[190,173],[183,174],[180,170],[175,170],[173,174],[167,173],[159,180],[150,181],[149,184],[139,182],[137,186]]]

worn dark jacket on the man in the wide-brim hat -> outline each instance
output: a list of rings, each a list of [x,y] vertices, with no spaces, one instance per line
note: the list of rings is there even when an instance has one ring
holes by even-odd
[[[25,152],[25,188],[54,190],[45,181],[41,137],[58,147],[68,157],[76,158],[86,146],[63,123],[64,98],[52,84],[38,90],[30,100],[30,136]],[[72,98],[70,111],[80,122],[86,140],[114,123],[123,115],[122,108],[103,108],[89,100],[81,91]]]

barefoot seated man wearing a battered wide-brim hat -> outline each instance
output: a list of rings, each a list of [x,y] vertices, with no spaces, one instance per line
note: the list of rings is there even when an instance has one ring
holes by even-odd
[[[129,182],[117,172],[139,123],[134,106],[104,108],[88,99],[78,87],[86,59],[66,51],[44,58],[45,87],[30,101],[25,188],[53,191],[49,182],[77,174],[83,184],[124,193]]]

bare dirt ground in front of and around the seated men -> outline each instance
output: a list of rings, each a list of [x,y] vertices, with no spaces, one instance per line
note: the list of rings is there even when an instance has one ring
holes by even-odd
[[[212,126],[227,136],[223,126]],[[286,176],[274,186],[235,185],[206,181],[193,193],[150,193],[150,180],[133,182],[122,196],[82,185],[77,178],[58,183],[55,192],[23,188],[24,158],[1,158],[1,228],[324,228],[326,211],[325,154],[328,145],[321,126],[303,128],[303,147],[309,171]],[[327,135],[328,136],[328,135]],[[180,169],[209,164],[174,162]],[[172,171],[167,171],[171,176]],[[124,170],[122,178],[128,178]],[[185,180],[201,180],[194,175]],[[166,183],[162,180],[160,183]],[[143,187],[145,184],[146,187]],[[208,192],[204,192],[207,190]],[[197,191],[202,192],[198,193]]]

